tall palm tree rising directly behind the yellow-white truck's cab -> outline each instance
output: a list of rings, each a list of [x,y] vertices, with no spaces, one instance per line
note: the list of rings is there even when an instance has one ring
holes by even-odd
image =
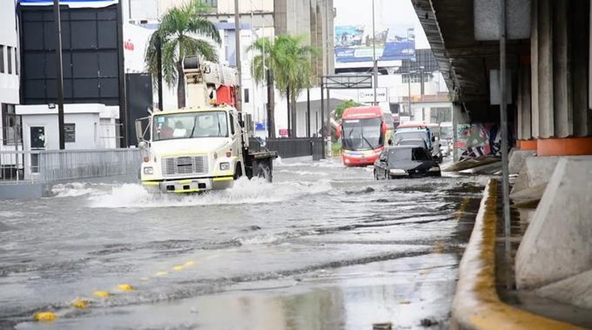
[[[185,75],[183,60],[185,56],[202,55],[205,59],[216,62],[218,56],[215,47],[210,42],[195,38],[202,35],[220,44],[220,34],[215,25],[206,20],[201,14],[209,7],[201,0],[192,0],[183,7],[173,7],[163,15],[160,26],[156,30],[146,47],[144,61],[152,76],[157,77],[157,50],[162,50],[162,75],[169,87],[177,83],[177,102],[179,108],[185,106]]]

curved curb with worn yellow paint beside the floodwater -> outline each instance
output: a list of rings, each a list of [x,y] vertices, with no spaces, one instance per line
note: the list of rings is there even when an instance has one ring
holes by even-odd
[[[459,266],[451,328],[580,329],[501,302],[496,292],[496,226],[497,180],[490,179]]]

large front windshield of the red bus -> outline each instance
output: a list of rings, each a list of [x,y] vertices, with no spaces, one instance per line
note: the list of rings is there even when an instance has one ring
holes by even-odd
[[[343,119],[342,144],[345,150],[374,149],[382,144],[382,118]]]

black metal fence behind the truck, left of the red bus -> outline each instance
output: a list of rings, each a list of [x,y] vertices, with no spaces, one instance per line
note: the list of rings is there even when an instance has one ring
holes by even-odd
[[[278,151],[282,158],[313,156],[313,160],[319,160],[323,157],[323,138],[268,138],[265,147]]]

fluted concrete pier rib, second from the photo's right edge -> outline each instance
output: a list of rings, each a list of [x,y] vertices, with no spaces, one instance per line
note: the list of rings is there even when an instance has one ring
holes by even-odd
[[[571,1],[570,1],[571,2]],[[574,105],[571,85],[568,1],[553,1],[553,116],[554,137],[574,134]]]

